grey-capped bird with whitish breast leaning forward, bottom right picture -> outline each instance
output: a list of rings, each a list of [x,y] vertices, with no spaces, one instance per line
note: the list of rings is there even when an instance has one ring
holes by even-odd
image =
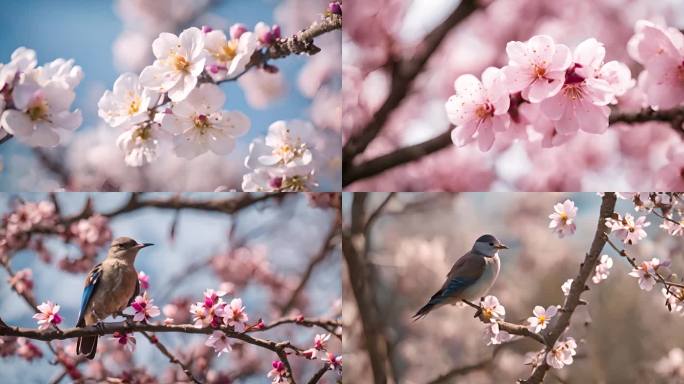
[[[480,236],[473,249],[456,261],[442,288],[413,315],[414,320],[425,317],[443,305],[456,304],[461,300],[472,301],[487,294],[499,276],[500,249],[508,247],[492,235]]]

